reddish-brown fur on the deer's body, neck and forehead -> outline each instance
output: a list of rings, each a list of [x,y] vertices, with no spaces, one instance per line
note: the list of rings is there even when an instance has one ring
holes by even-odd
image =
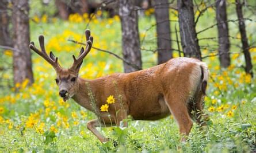
[[[133,73],[114,73],[94,80],[79,78],[72,99],[97,113],[100,112],[101,105],[106,104],[107,97],[114,95],[116,103],[110,104],[108,111],[111,120],[108,113],[100,112],[100,122],[104,124],[112,122],[119,125],[128,115],[135,120],[157,120],[171,112],[178,122],[180,132],[188,135],[193,124],[191,119],[201,123],[201,117],[198,116],[202,111],[202,73],[198,73],[197,87],[192,87],[189,79],[194,67],[200,66],[200,63],[192,58],[174,58],[164,64]],[[68,71],[64,70],[59,76],[64,77],[63,74],[70,73]],[[88,85],[97,103],[97,111],[91,107]],[[194,88],[196,91],[191,95]],[[120,95],[122,101],[118,100]],[[120,110],[117,118],[116,110]],[[191,111],[194,110],[193,115]],[[89,129],[95,130],[95,127],[89,126]],[[95,134],[102,142],[106,140],[98,132]]]

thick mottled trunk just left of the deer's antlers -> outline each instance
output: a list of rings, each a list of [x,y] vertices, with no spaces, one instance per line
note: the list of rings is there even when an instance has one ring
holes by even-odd
[[[13,1],[14,51],[13,76],[14,84],[25,79],[33,83],[31,53],[29,50],[29,4],[28,0]]]

